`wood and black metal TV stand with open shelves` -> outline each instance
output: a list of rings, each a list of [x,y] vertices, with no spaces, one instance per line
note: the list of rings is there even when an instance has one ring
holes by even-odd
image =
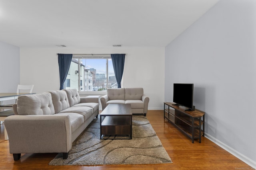
[[[186,111],[172,102],[164,102],[164,119],[168,119],[178,129],[192,139],[199,139],[204,136],[204,112],[198,109]]]

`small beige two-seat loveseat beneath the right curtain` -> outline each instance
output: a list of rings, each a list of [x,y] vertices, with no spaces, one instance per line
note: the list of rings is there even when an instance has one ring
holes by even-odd
[[[110,103],[130,104],[132,113],[143,113],[146,116],[149,98],[144,94],[143,88],[108,88],[100,102],[102,110]]]

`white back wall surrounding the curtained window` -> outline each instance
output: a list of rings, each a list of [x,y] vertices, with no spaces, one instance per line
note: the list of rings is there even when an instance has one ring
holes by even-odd
[[[20,48],[20,81],[34,84],[33,92],[60,88],[56,53],[127,53],[122,87],[142,87],[150,98],[149,109],[162,109],[164,102],[164,48]]]

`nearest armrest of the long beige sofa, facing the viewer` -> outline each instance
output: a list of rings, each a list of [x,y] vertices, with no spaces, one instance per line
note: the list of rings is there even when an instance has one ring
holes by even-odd
[[[12,115],[4,125],[10,153],[67,153],[72,147],[68,115]]]

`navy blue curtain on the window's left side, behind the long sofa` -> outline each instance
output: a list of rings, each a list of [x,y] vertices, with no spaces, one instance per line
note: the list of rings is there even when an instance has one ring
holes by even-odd
[[[58,54],[59,72],[60,72],[60,90],[63,89],[64,82],[67,78],[72,56],[73,56],[72,54]]]

